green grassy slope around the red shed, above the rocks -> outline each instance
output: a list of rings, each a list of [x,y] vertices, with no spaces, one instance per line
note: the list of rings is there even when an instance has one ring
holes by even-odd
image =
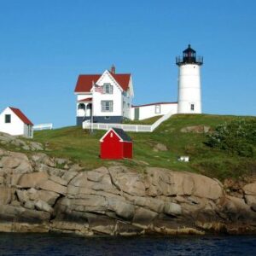
[[[219,115],[174,115],[166,120],[153,133],[129,132],[134,142],[134,159],[119,160],[125,166],[133,166],[143,172],[145,166],[158,166],[172,170],[199,172],[210,177],[240,177],[243,174],[256,173],[256,159],[227,154],[222,150],[207,147],[207,136],[204,133],[182,132],[181,129],[193,125],[210,126],[225,121],[239,119],[236,116]],[[47,154],[77,160],[87,169],[97,166],[113,165],[113,160],[99,158],[99,139],[105,131],[83,130],[73,126],[52,131],[37,131],[34,139],[40,143],[47,143],[51,151]],[[161,143],[167,151],[155,150],[156,144]],[[189,155],[190,162],[177,161],[180,155]]]

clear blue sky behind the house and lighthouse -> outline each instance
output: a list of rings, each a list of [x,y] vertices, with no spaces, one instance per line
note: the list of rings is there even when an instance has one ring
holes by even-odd
[[[134,104],[177,101],[175,56],[204,56],[204,113],[256,115],[256,1],[0,0],[0,109],[75,124],[80,73],[131,73]]]

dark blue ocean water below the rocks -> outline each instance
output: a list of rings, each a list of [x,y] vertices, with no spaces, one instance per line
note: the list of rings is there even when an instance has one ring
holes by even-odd
[[[0,233],[0,255],[256,255],[256,236],[83,238]]]

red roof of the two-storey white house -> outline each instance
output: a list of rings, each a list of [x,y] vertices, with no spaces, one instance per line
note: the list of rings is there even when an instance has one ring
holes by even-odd
[[[131,78],[130,73],[119,73],[114,74],[110,73],[113,76],[113,79],[117,81],[117,83],[122,87],[123,90],[127,90],[129,86],[129,81]],[[90,75],[79,75],[79,79],[77,81],[77,85],[75,88],[75,92],[89,92],[93,82],[96,83],[98,79],[100,79],[101,74],[90,74]]]

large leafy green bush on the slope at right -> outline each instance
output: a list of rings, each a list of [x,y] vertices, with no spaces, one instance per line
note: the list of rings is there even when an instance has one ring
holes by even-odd
[[[218,125],[207,136],[207,145],[219,148],[230,154],[253,157],[256,147],[256,120],[234,119]]]

